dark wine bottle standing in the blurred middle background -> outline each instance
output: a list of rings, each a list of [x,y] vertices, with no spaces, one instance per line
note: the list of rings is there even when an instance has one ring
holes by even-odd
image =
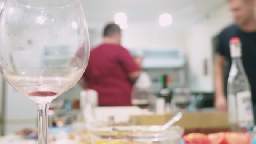
[[[160,93],[158,97],[162,97],[165,99],[165,103],[171,103],[171,98],[172,98],[172,94],[171,94],[171,90],[168,88],[167,85],[167,75],[163,75],[163,87],[160,89]]]

